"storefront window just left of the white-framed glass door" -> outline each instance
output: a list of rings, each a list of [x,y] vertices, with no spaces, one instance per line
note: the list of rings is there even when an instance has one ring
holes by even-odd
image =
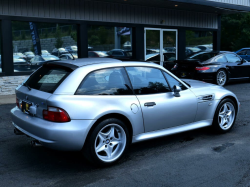
[[[132,29],[128,27],[94,26],[88,27],[88,56],[132,57]]]

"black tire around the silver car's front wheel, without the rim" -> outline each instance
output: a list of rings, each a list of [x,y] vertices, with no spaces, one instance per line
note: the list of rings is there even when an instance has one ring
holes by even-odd
[[[229,129],[227,129],[227,130],[224,130],[224,129],[222,129],[222,128],[220,127],[220,125],[219,125],[219,122],[218,122],[218,115],[219,115],[219,112],[220,112],[220,109],[221,109],[222,105],[225,104],[225,103],[227,103],[227,102],[230,102],[230,103],[234,106],[235,117],[234,117],[234,121],[233,121],[233,124],[231,125],[231,127],[230,127]],[[236,108],[235,102],[234,102],[232,99],[230,99],[230,98],[225,98],[225,99],[223,99],[223,100],[219,103],[219,105],[217,106],[217,109],[216,109],[216,111],[215,111],[215,115],[214,115],[213,125],[212,125],[212,126],[213,126],[214,130],[215,130],[216,132],[218,132],[218,133],[226,133],[226,132],[229,132],[229,131],[233,128],[233,126],[234,126],[234,124],[235,124],[236,117],[237,117],[237,108]]]

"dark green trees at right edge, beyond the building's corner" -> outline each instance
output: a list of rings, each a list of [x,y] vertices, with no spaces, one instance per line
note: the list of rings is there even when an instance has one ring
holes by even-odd
[[[224,15],[221,26],[221,50],[250,47],[250,13]]]

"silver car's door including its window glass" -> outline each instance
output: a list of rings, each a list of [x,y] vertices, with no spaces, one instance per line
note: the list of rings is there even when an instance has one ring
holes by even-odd
[[[182,91],[181,97],[175,97],[162,70],[153,67],[126,70],[141,105],[145,132],[194,122],[197,99],[182,83],[176,80]]]

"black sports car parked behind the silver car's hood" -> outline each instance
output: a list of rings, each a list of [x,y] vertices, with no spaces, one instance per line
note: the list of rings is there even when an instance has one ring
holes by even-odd
[[[250,78],[250,63],[233,52],[200,52],[175,62],[171,71],[180,78],[212,81],[220,86]]]

